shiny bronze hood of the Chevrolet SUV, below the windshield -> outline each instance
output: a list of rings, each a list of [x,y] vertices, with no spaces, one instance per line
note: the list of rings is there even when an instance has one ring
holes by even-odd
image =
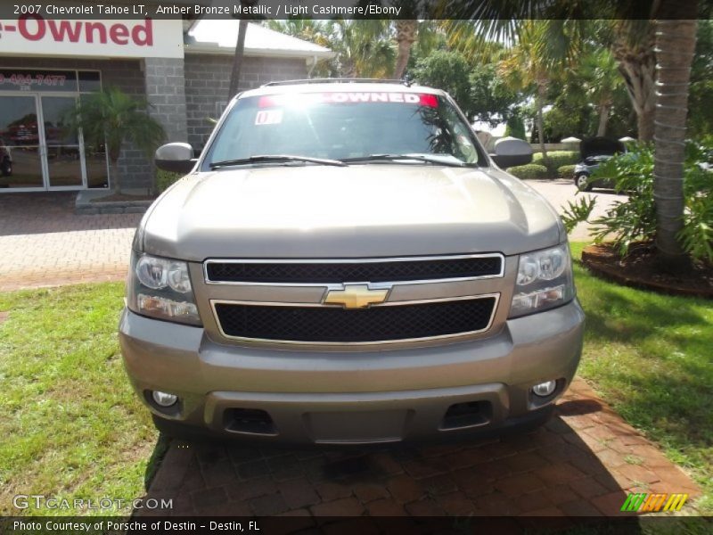
[[[152,205],[140,236],[146,252],[195,261],[516,254],[563,237],[545,199],[502,171],[414,164],[193,174]]]

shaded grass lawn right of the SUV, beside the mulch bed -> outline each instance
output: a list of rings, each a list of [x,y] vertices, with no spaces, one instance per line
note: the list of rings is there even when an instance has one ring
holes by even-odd
[[[575,259],[583,247],[572,244]],[[578,374],[693,474],[701,512],[713,513],[713,302],[610,284],[581,265],[575,282],[586,312]]]

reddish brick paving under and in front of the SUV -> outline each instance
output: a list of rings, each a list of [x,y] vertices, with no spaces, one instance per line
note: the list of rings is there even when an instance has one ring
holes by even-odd
[[[337,515],[617,515],[632,491],[699,494],[576,380],[545,427],[499,440],[381,449],[174,440],[147,498],[173,498],[173,510],[154,513],[290,514],[308,525]]]

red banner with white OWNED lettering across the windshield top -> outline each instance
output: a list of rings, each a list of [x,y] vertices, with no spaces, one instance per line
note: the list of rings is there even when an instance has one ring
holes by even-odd
[[[438,98],[436,95],[378,91],[334,91],[330,93],[303,93],[299,95],[266,95],[260,97],[258,107],[274,108],[275,106],[285,106],[296,103],[404,103],[438,108]]]

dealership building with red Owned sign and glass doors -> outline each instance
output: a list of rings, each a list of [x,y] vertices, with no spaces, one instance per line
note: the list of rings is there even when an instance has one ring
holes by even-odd
[[[201,150],[225,109],[239,21],[0,21],[0,193],[111,185],[103,147],[69,136],[62,116],[84,93],[117,86],[145,98],[167,141]],[[333,53],[250,23],[239,90],[307,78]],[[151,188],[154,169],[125,144],[122,188]]]

